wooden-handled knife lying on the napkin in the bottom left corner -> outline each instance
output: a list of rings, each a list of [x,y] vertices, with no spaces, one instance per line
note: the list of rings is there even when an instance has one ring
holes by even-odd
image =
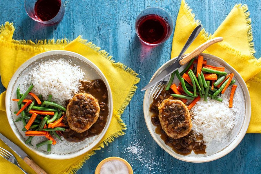
[[[31,160],[28,155],[16,144],[11,142],[8,138],[3,136],[0,133],[0,139],[7,145],[9,146],[19,157],[23,159],[26,164],[28,164],[36,173],[38,174],[47,174],[43,169],[41,169],[33,160]]]

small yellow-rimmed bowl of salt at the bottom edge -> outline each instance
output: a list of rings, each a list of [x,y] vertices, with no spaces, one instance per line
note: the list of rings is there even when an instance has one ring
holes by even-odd
[[[108,157],[96,167],[95,174],[133,174],[131,165],[120,157]]]

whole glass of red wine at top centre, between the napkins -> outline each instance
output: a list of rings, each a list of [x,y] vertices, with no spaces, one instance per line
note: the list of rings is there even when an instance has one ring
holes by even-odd
[[[135,30],[142,42],[156,46],[168,40],[173,30],[173,21],[170,14],[162,8],[146,8],[136,18]]]

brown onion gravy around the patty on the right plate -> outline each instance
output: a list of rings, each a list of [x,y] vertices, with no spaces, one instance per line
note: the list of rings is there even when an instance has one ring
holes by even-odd
[[[192,150],[195,154],[206,153],[206,145],[203,144],[202,135],[196,135],[191,130],[188,135],[179,139],[173,139],[169,137],[162,129],[159,119],[159,110],[157,106],[167,98],[173,97],[169,94],[169,91],[164,90],[161,92],[161,94],[158,96],[156,100],[153,99],[153,102],[150,105],[150,112],[153,113],[153,115],[151,116],[151,122],[154,126],[157,126],[155,132],[160,135],[160,138],[165,142],[165,144],[170,146],[173,149],[173,151],[175,151],[178,154],[189,155]],[[196,140],[199,142],[196,142]]]

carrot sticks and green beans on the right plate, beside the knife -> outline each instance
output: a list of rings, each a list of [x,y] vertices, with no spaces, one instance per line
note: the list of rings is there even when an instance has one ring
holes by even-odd
[[[179,86],[175,83],[172,84],[175,75],[180,81]],[[208,65],[203,56],[199,55],[198,59],[193,58],[181,73],[176,70],[171,74],[166,90],[171,89],[174,92],[171,95],[179,98],[184,103],[188,99],[192,100],[188,105],[190,110],[200,98],[203,98],[206,102],[208,97],[222,102],[222,98],[218,97],[218,95],[224,94],[229,86],[235,84],[233,77],[233,73],[228,74],[225,72],[225,67]],[[230,108],[233,107],[235,89],[236,85],[233,85],[229,99]]]

